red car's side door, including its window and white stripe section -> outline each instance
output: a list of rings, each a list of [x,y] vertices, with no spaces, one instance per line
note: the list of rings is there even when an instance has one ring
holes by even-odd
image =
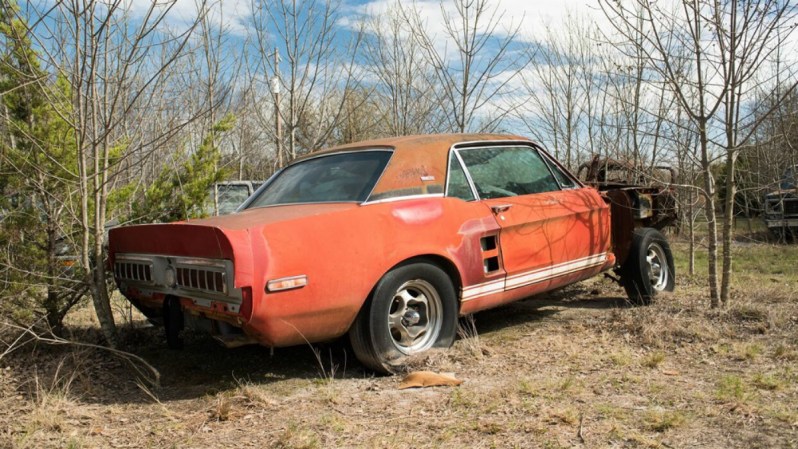
[[[531,145],[457,149],[479,201],[501,228],[499,247],[505,288],[536,285],[604,261],[595,235],[595,195]],[[608,230],[607,230],[608,231]]]

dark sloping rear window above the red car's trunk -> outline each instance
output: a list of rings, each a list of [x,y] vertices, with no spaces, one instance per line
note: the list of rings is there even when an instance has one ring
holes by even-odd
[[[247,207],[277,204],[358,202],[368,199],[391,152],[358,151],[289,165]]]

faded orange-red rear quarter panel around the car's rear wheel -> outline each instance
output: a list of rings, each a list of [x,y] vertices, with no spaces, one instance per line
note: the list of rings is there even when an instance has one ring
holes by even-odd
[[[484,279],[479,239],[497,230],[484,204],[453,198],[365,204],[266,225],[262,235],[252,236],[253,263],[262,277],[253,286],[247,332],[274,346],[340,336],[379,279],[417,256],[446,258],[461,277],[458,283],[478,283]],[[306,287],[265,291],[269,280],[303,274]]]

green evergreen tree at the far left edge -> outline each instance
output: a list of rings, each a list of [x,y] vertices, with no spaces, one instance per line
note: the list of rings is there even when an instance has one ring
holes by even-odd
[[[77,161],[69,84],[50,80],[16,6],[0,9],[0,313],[58,330],[86,293],[73,235]]]

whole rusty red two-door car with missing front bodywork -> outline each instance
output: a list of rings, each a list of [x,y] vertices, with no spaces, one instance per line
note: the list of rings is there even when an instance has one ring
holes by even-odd
[[[520,136],[373,140],[294,160],[232,215],[113,229],[110,263],[170,346],[185,325],[228,346],[348,334],[392,372],[450,346],[461,316],[599,273],[635,303],[673,290],[632,190],[584,185]]]

